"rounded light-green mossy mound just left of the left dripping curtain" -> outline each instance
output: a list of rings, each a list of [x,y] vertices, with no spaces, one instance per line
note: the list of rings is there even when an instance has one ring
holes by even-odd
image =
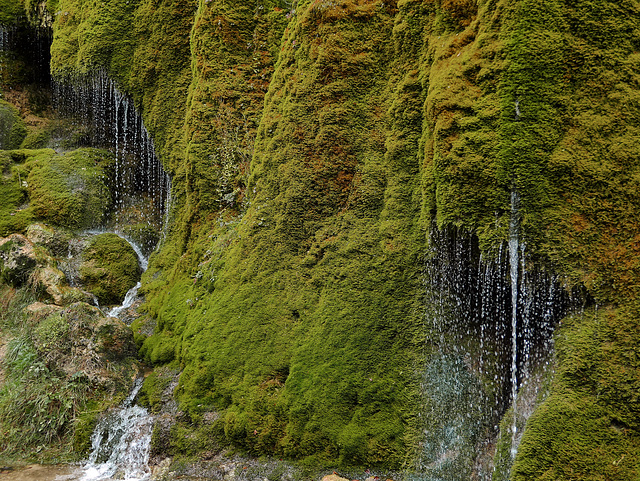
[[[34,159],[26,179],[34,215],[71,229],[100,225],[111,204],[102,168],[110,161],[96,149]]]

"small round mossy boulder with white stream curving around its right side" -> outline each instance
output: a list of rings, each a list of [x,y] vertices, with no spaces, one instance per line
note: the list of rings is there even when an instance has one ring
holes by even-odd
[[[120,304],[140,279],[140,266],[133,247],[116,234],[93,237],[83,253],[80,282],[100,304]]]

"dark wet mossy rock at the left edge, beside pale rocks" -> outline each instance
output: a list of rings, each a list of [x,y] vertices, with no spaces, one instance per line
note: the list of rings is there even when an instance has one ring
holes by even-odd
[[[37,265],[33,244],[26,237],[11,234],[0,239],[0,280],[21,287]]]

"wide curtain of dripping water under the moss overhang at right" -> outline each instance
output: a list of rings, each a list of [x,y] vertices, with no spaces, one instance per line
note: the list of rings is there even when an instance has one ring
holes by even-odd
[[[513,201],[517,221],[517,197]],[[422,480],[491,479],[500,420],[518,389],[544,369],[554,326],[572,305],[557,277],[525,268],[517,227],[493,253],[481,253],[478,240],[462,231],[432,231],[424,275],[431,341]],[[512,452],[528,414],[514,409]]]

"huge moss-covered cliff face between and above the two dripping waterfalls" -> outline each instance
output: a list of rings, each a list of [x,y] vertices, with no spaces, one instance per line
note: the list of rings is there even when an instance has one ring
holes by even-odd
[[[531,259],[610,306],[617,334],[593,342],[626,349],[639,320],[638,27],[633,1],[59,0],[53,71],[107,70],[173,175],[171,229],[143,277],[157,329],[142,344],[183,369],[170,450],[215,439],[401,466],[422,429],[428,232],[460,227],[489,252],[514,193]],[[608,372],[598,409],[633,411]],[[523,438],[522,479],[586,479],[558,471],[547,440],[570,416],[551,407],[590,396],[562,376]],[[607,462],[619,443],[637,451],[634,423],[598,419],[588,430]]]

